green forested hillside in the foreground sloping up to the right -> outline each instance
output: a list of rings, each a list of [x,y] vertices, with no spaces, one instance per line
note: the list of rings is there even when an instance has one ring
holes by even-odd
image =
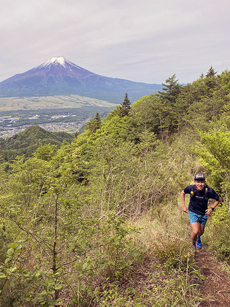
[[[2,161],[2,306],[198,306],[179,198],[198,172],[222,198],[203,244],[229,272],[230,72],[163,85],[71,144]]]

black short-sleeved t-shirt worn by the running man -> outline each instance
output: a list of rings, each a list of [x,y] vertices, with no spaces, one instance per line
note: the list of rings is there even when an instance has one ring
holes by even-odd
[[[190,194],[192,187],[193,185],[187,186],[183,192],[185,194]],[[205,210],[208,209],[208,200],[205,200],[204,196],[204,189],[203,191],[198,191],[196,188],[195,195],[190,197],[189,211],[200,215],[205,215]],[[210,187],[208,187],[208,195],[206,197],[216,201],[219,199],[219,195]]]

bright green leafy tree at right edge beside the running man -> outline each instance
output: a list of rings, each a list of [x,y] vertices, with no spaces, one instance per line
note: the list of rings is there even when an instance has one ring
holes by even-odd
[[[230,260],[230,130],[215,123],[208,132],[200,131],[202,145],[196,149],[209,173],[209,182],[221,196],[223,206],[213,212],[207,235],[218,257]]]

